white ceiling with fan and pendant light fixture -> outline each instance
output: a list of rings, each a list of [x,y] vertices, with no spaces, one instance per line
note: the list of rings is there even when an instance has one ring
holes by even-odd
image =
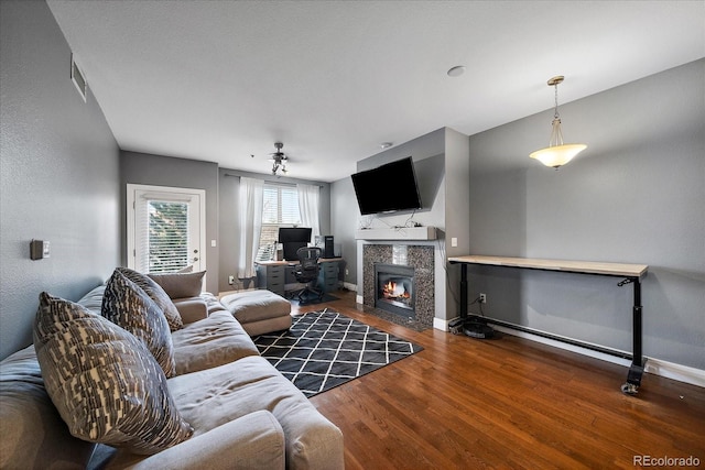
[[[121,149],[268,173],[282,141],[289,176],[324,182],[552,108],[554,75],[565,103],[705,56],[703,0],[48,6]]]

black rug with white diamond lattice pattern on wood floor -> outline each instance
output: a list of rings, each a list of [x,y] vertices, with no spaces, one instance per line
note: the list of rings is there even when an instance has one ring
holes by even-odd
[[[295,316],[289,330],[253,340],[260,354],[306,396],[423,349],[330,309]]]

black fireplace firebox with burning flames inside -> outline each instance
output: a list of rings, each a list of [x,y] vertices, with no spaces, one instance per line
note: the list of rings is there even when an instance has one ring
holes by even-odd
[[[414,269],[399,264],[375,263],[375,307],[415,317]]]

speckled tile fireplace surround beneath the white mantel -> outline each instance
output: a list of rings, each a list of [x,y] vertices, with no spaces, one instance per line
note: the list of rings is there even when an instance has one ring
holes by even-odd
[[[434,248],[422,244],[362,245],[362,298],[364,305],[375,307],[375,263],[400,264],[414,269],[415,320],[433,326],[435,305]]]

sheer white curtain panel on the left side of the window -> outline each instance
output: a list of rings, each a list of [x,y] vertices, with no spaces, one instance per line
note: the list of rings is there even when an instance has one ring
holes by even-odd
[[[240,207],[238,221],[240,227],[240,250],[238,252],[238,277],[256,276],[254,258],[260,244],[262,231],[262,200],[264,182],[262,179],[240,177]]]

